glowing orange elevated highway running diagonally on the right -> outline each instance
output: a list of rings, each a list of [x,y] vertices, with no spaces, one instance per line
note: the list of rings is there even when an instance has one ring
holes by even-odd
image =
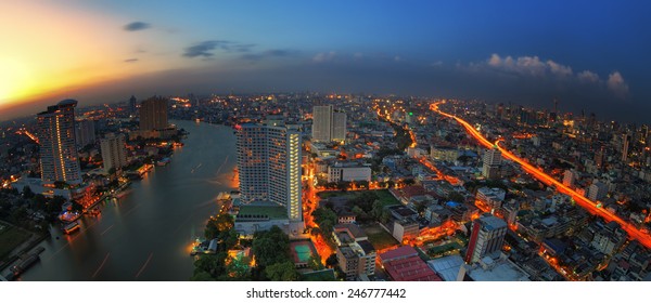
[[[439,104],[442,104],[442,102],[432,104],[431,109],[445,116],[445,117],[455,119],[458,123],[463,126],[463,128],[465,129],[465,131],[468,133],[470,133],[475,140],[477,140],[485,147],[487,147],[487,148],[497,147],[501,152],[502,157],[510,159],[514,162],[518,162],[526,172],[534,175],[538,181],[540,181],[547,185],[554,186],[559,193],[569,195],[570,197],[572,197],[574,199],[574,201],[576,201],[576,203],[578,206],[580,206],[582,208],[587,210],[589,213],[599,215],[599,216],[603,218],[607,222],[611,222],[611,221],[617,222],[622,226],[622,228],[624,230],[626,230],[626,233],[628,233],[628,236],[638,240],[644,247],[651,248],[651,235],[638,229],[630,223],[624,221],[623,219],[621,219],[620,216],[617,216],[613,213],[610,213],[605,209],[597,207],[597,203],[595,201],[591,201],[590,199],[579,195],[572,188],[563,185],[561,182],[557,181],[552,176],[542,172],[538,168],[527,163],[524,159],[516,157],[511,152],[499,146],[499,141],[495,142],[495,144],[490,143],[486,137],[484,137],[477,130],[475,130],[465,120],[463,120],[459,117],[452,116],[450,114],[444,113],[441,109],[438,109]]]

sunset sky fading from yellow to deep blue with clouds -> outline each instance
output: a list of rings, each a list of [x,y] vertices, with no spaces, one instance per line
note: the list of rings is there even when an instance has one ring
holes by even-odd
[[[651,123],[646,1],[5,2],[0,120],[68,97],[319,91]]]

